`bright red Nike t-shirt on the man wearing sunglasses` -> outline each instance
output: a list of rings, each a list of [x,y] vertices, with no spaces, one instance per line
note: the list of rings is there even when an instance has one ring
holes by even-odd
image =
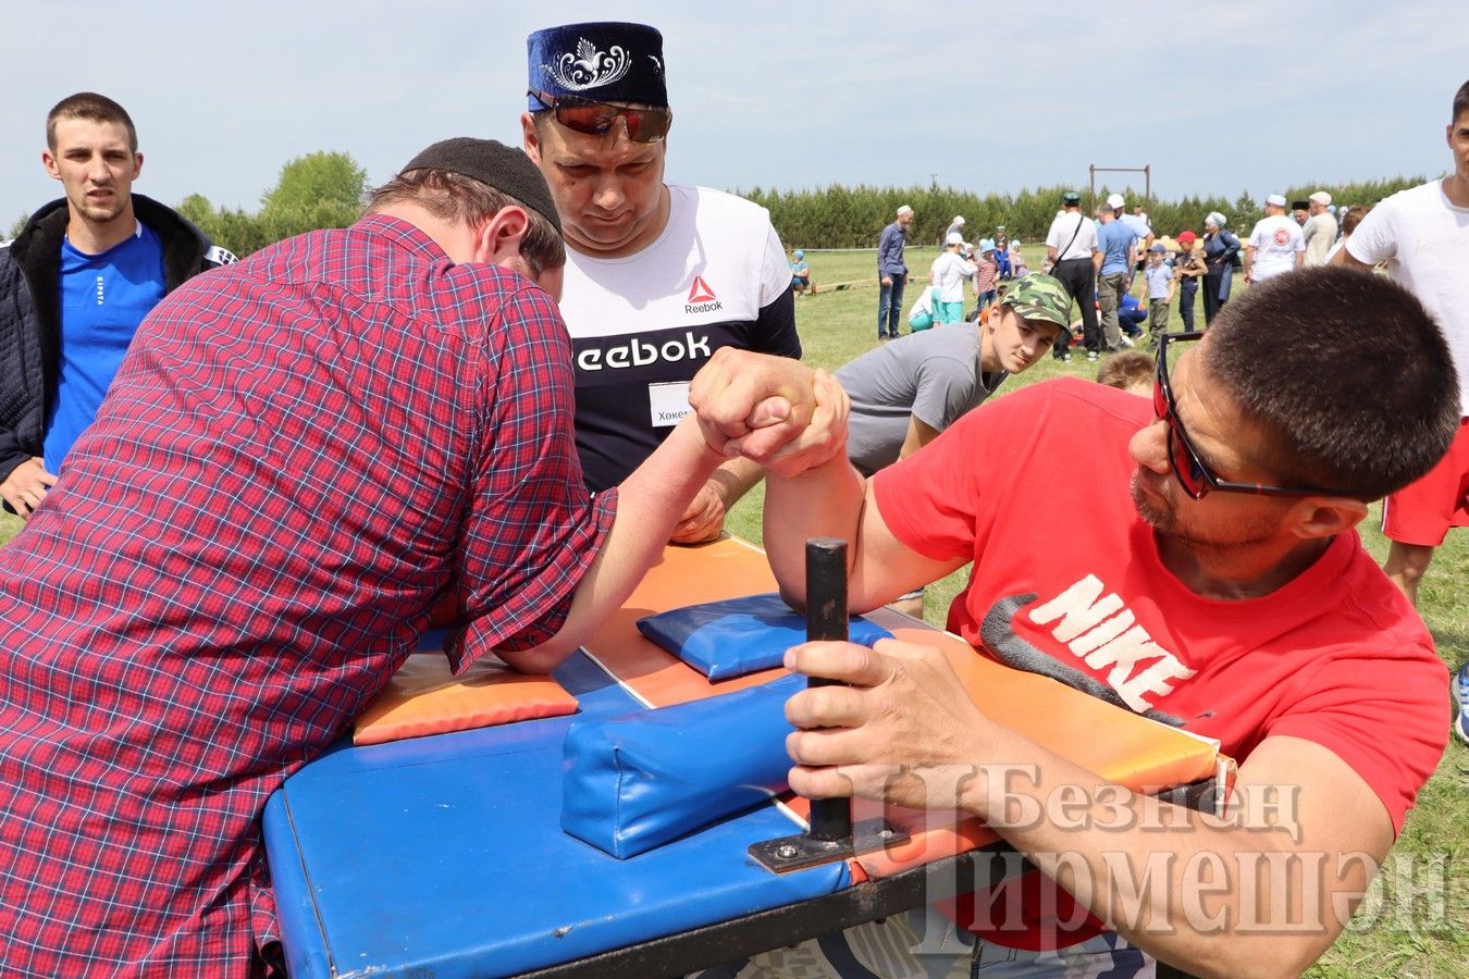
[[[949,609],[970,644],[1218,738],[1240,760],[1272,734],[1316,741],[1400,831],[1447,740],[1447,671],[1422,619],[1356,533],[1268,596],[1190,592],[1131,499],[1127,443],[1152,418],[1146,399],[1102,385],[1033,385],[878,473],[877,506],[918,553],[974,561]]]

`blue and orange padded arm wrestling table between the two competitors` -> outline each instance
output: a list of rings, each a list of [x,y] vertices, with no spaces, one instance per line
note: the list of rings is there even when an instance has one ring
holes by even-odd
[[[782,671],[710,683],[635,622],[771,590],[749,545],[668,547],[555,677],[579,715],[608,716],[765,683]],[[1212,744],[1011,671],[896,612],[868,618],[940,646],[989,713],[1099,775],[1212,798],[1227,762]],[[573,719],[342,743],[286,779],[266,806],[264,842],[291,976],[682,975],[983,888],[1019,866],[978,820],[886,810],[911,829],[903,845],[770,873],[746,847],[793,832],[799,798],[617,860],[561,831]]]

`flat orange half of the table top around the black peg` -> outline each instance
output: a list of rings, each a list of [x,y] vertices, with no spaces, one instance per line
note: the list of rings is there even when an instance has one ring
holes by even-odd
[[[677,656],[638,633],[643,615],[696,602],[773,592],[774,575],[759,549],[736,539],[698,547],[670,546],[627,603],[585,644],[586,652],[652,706],[698,700],[761,684],[782,669],[710,683]],[[878,609],[868,614],[899,640],[936,646],[948,656],[959,683],[984,712],[1037,744],[1128,788],[1156,791],[1215,778],[1218,746],[1072,690],[1049,677],[1003,666],[974,652],[964,640],[914,618]],[[1224,759],[1227,763],[1228,760]],[[787,800],[806,815],[804,798]],[[858,801],[853,819],[881,815],[911,832],[908,842],[858,857],[853,873],[889,876],[912,866],[995,842],[974,818],[956,819]]]

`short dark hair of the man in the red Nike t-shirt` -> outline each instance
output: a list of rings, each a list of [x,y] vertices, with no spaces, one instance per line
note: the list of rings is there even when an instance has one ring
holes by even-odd
[[[1434,467],[1459,429],[1448,342],[1385,276],[1293,272],[1231,299],[1209,327],[1205,371],[1275,436],[1255,452],[1287,486],[1363,501]]]

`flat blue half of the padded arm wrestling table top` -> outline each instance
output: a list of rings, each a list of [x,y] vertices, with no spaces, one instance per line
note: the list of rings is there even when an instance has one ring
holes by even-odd
[[[580,653],[557,678],[583,713],[639,709]],[[571,721],[344,743],[291,776],[264,837],[292,978],[514,975],[851,884],[755,865],[749,844],[796,832],[773,806],[629,860],[566,835]]]

